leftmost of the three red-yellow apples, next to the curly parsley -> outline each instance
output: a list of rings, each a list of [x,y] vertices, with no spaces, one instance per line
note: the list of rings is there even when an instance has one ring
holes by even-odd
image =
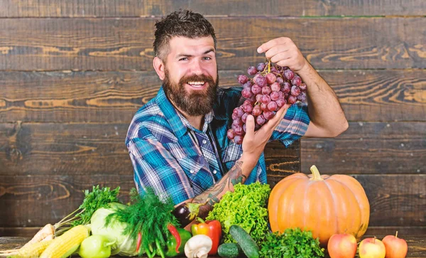
[[[351,234],[334,234],[327,244],[331,258],[354,258],[356,247],[356,238]]]

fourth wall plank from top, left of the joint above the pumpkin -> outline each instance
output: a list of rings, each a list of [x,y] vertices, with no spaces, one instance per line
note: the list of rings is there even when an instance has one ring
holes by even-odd
[[[129,124],[0,124],[1,175],[132,174],[124,144],[128,128]],[[288,149],[278,144],[266,147],[267,166],[300,171],[300,142]],[[286,156],[290,161],[283,159]]]

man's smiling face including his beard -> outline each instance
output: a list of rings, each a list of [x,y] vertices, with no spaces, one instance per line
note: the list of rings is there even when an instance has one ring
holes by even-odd
[[[174,37],[167,52],[164,73],[159,74],[165,95],[190,116],[207,114],[218,85],[213,38]]]

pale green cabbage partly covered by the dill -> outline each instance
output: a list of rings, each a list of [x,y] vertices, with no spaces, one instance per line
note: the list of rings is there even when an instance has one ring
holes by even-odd
[[[118,209],[124,209],[126,205],[121,203],[109,203],[109,208],[100,208],[95,211],[90,220],[92,227],[92,235],[103,235],[108,237],[111,245],[111,255],[117,254],[120,256],[137,256],[136,239],[132,239],[129,235],[124,235],[123,231],[126,228],[126,223],[113,221],[108,227],[104,227],[105,218],[107,215],[116,212]]]

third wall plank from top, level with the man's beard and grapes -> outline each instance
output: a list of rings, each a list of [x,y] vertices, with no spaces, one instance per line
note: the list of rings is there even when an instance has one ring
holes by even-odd
[[[320,70],[349,121],[426,122],[426,70]],[[221,70],[221,87],[244,70]],[[155,97],[155,72],[0,72],[0,122],[130,123]]]

